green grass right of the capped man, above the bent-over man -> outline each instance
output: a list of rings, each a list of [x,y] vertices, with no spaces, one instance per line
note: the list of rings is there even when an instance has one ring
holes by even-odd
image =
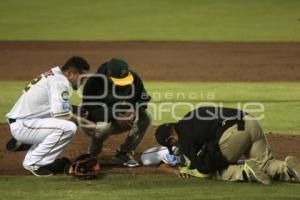
[[[182,96],[176,98],[174,95],[171,102],[192,102],[194,107],[197,107],[199,102],[200,105],[213,102],[220,106],[243,108],[257,117],[263,114],[261,124],[267,132],[300,133],[300,83],[151,83],[147,86],[150,92],[155,91],[162,97],[157,103],[168,102],[169,98],[166,97],[170,94],[184,93],[185,98],[181,98]],[[197,98],[190,99],[188,95],[191,93],[194,93]],[[249,110],[260,108],[258,105],[252,105],[255,102],[262,104],[263,113]],[[249,106],[246,106],[247,104]],[[176,108],[176,116],[182,116],[190,110],[187,106]],[[174,119],[166,112],[162,120],[156,122],[161,121],[174,121]]]

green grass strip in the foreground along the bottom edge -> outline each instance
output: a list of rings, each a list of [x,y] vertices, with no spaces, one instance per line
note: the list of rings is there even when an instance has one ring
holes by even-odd
[[[93,200],[93,199],[300,199],[299,185],[271,186],[225,183],[202,179],[179,179],[172,175],[113,175],[102,180],[80,181],[70,177],[1,177],[0,199]]]

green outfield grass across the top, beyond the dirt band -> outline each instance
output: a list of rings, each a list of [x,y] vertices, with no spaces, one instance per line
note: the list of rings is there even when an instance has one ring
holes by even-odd
[[[0,40],[300,41],[298,0],[10,0]]]

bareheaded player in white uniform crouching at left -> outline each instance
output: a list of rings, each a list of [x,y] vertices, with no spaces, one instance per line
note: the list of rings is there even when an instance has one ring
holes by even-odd
[[[79,76],[88,70],[83,58],[70,58],[62,68],[54,67],[32,80],[6,115],[12,136],[32,144],[23,161],[32,174],[52,175],[47,166],[71,141],[77,129],[74,122],[84,121],[72,114],[69,96],[82,84]]]

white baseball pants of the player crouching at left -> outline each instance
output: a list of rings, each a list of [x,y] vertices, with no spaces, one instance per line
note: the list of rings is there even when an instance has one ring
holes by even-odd
[[[23,161],[23,166],[31,170],[54,162],[71,141],[76,129],[75,123],[56,118],[17,120],[10,124],[16,140],[32,144]]]

